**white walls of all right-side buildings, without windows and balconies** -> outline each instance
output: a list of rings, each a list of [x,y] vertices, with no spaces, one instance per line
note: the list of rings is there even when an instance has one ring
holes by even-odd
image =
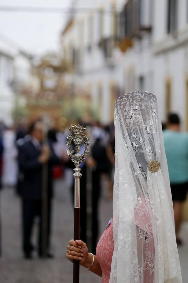
[[[120,12],[126,0],[116,0],[116,8]],[[151,3],[153,2],[153,6]],[[77,1],[77,7],[92,7],[108,10],[111,9],[111,1],[96,0]],[[71,32],[65,35],[65,42],[71,37],[75,43],[77,36],[77,22],[83,20],[83,62],[81,76],[77,80],[82,85],[92,84],[93,103],[97,101],[97,84],[102,81],[103,86],[103,122],[110,121],[110,82],[115,81],[124,91],[138,90],[139,77],[144,77],[144,88],[153,92],[158,98],[161,119],[165,121],[165,93],[166,80],[172,81],[171,111],[180,114],[183,128],[185,129],[186,103],[185,103],[185,80],[188,74],[188,3],[186,0],[178,1],[178,30],[176,36],[167,34],[168,0],[143,0],[142,21],[143,25],[152,24],[151,33],[143,33],[142,39],[134,39],[132,48],[125,53],[114,50],[109,68],[102,50],[98,47],[98,21],[94,16],[94,39],[91,52],[87,51],[88,44],[88,14],[75,16],[74,36]],[[104,17],[104,35],[111,35],[111,20],[109,15]],[[79,39],[78,39],[79,40]]]

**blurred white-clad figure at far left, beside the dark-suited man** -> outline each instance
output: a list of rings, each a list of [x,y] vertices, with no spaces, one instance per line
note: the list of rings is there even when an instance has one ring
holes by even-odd
[[[17,148],[15,146],[16,133],[10,127],[3,131],[3,175],[2,181],[4,186],[13,187],[17,183],[18,163]]]

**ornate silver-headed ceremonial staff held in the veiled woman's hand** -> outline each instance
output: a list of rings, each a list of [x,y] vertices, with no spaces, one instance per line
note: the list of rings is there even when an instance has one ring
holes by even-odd
[[[85,160],[89,154],[89,142],[86,136],[83,136],[86,128],[80,125],[70,126],[69,130],[71,135],[67,137],[67,155],[70,156],[71,161],[74,163],[76,168],[74,169],[74,240],[80,240],[80,178],[81,178],[81,169],[79,168],[80,164]],[[71,149],[71,143],[75,144],[74,149]],[[84,153],[79,154],[81,150],[81,143],[84,143]],[[75,154],[73,154],[75,153]],[[74,260],[73,267],[73,283],[79,283],[80,280],[80,262]]]

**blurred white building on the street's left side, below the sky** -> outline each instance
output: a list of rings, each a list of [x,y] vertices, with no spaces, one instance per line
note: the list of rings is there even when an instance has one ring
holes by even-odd
[[[14,124],[13,109],[23,87],[32,89],[32,61],[9,43],[0,41],[0,121]]]

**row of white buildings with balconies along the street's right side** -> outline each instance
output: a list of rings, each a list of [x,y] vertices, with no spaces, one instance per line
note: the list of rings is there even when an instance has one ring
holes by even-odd
[[[75,66],[66,76],[90,88],[101,121],[113,120],[116,97],[147,90],[163,121],[176,112],[188,129],[188,2],[77,0],[73,7],[61,37]]]

